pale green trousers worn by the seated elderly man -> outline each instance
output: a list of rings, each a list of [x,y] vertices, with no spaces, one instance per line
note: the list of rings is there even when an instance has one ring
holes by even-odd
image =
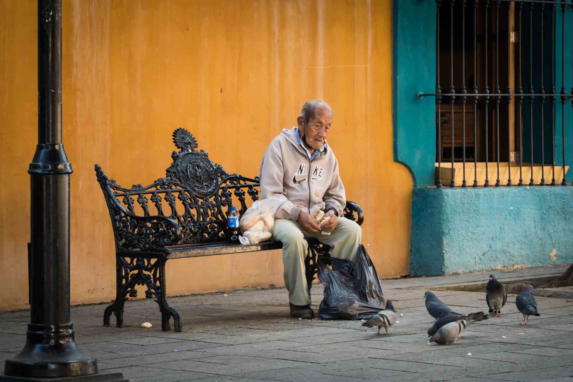
[[[275,219],[273,239],[282,242],[282,264],[284,264],[285,286],[289,300],[294,305],[309,305],[311,295],[308,291],[304,258],[307,256],[308,243],[305,237],[315,237],[321,243],[330,245],[333,258],[348,259],[354,262],[356,251],[362,238],[360,225],[346,217],[338,218],[338,225],[330,235],[308,232],[296,221]]]

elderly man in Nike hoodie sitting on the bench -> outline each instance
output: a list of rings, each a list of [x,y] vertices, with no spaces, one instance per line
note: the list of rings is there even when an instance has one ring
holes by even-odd
[[[362,236],[358,224],[342,217],[346,195],[338,161],[326,142],[332,119],[324,101],[305,103],[298,126],[283,129],[261,162],[261,198],[286,197],[274,215],[273,239],[282,242],[284,280],[295,318],[314,317],[304,268],[305,238],[316,237],[332,247],[331,256],[354,261]]]

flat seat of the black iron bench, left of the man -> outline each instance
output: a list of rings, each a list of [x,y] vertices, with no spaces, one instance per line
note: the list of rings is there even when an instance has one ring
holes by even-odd
[[[282,248],[280,241],[265,241],[257,244],[234,244],[229,241],[215,243],[182,244],[165,247],[167,259],[195,258],[199,256],[238,254],[241,252],[278,250]]]

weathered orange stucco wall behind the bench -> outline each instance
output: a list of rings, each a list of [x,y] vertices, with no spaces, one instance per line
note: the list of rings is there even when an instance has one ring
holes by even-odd
[[[0,0],[0,310],[28,302],[28,164],[37,142],[37,2]],[[115,297],[109,215],[93,164],[121,185],[171,163],[193,132],[227,171],[258,174],[302,104],[334,110],[347,197],[366,211],[378,273],[408,270],[412,181],[392,155],[391,1],[64,0],[63,137],[71,177],[72,303]],[[167,263],[167,293],[284,285],[279,251]],[[286,294],[285,294],[286,302]]]

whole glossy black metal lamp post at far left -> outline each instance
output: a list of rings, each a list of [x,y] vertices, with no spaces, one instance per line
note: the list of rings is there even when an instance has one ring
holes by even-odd
[[[97,360],[85,358],[77,349],[70,322],[72,165],[62,145],[61,9],[61,0],[38,0],[38,145],[28,170],[32,178],[30,323],[26,345],[6,360],[6,377],[0,380],[97,373]]]

